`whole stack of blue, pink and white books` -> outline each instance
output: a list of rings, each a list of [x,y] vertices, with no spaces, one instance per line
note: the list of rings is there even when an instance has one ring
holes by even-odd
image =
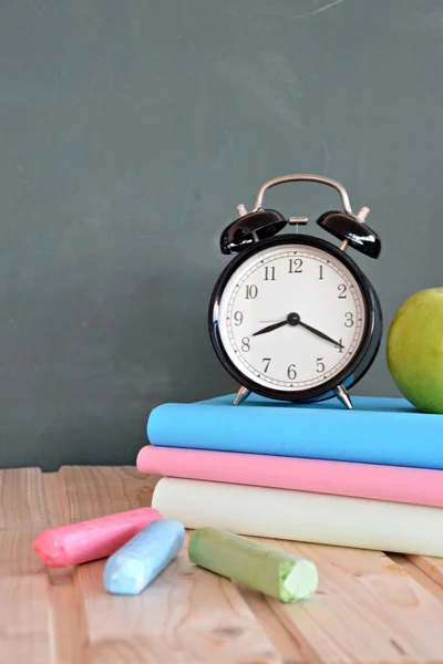
[[[402,398],[154,408],[143,474],[189,529],[443,557],[443,416]]]

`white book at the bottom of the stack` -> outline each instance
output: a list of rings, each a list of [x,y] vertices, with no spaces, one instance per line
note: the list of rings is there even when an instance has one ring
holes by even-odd
[[[162,478],[153,507],[185,528],[443,558],[443,508]]]

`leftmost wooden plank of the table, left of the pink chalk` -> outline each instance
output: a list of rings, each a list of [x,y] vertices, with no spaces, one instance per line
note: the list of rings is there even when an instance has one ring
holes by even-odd
[[[48,583],[32,550],[44,528],[42,474],[37,468],[0,471],[0,652],[8,664],[54,662]]]

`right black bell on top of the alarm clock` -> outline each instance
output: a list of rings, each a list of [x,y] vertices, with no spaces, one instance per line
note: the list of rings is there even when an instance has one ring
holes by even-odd
[[[369,210],[364,209],[363,214],[359,214],[354,217],[347,212],[331,210],[329,212],[323,212],[321,217],[317,219],[317,224],[336,238],[343,240],[343,249],[350,245],[353,249],[361,251],[361,253],[364,253],[370,258],[379,258],[381,252],[381,240],[377,232],[364,224],[364,218],[368,212]]]

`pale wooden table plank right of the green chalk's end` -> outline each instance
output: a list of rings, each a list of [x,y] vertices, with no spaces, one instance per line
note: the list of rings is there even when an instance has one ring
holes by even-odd
[[[261,541],[318,566],[320,584],[311,600],[268,600],[307,657],[334,664],[443,661],[442,602],[383,553]]]

